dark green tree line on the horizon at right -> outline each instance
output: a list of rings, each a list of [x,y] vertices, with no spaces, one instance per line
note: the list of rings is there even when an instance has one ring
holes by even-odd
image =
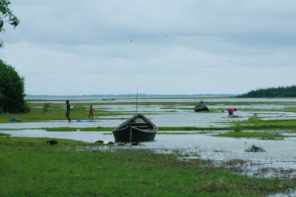
[[[236,97],[296,97],[296,85],[259,88]]]

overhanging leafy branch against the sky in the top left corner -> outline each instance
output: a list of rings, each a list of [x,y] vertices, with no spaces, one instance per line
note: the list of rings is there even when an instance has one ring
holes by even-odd
[[[14,28],[20,23],[20,20],[17,19],[17,17],[14,14],[12,14],[12,11],[8,8],[9,4],[10,2],[7,0],[0,0],[0,33],[1,31],[5,32],[5,29],[3,28],[5,22],[9,22],[9,24],[13,25]],[[2,40],[0,40],[0,48],[3,48]]]

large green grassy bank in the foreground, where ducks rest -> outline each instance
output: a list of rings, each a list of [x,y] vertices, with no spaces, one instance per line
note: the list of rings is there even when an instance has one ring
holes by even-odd
[[[104,152],[100,145],[47,140],[0,138],[1,196],[266,196],[296,185],[295,179],[250,178],[209,161],[134,147]]]

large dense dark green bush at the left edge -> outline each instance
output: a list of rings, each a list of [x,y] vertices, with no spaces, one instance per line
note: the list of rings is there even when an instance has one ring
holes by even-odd
[[[0,113],[30,112],[25,96],[25,78],[0,59]]]

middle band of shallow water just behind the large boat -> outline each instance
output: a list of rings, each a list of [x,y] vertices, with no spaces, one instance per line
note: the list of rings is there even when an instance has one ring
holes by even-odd
[[[296,119],[296,113],[294,112],[281,112],[281,111],[240,111],[236,112],[235,115],[241,116],[241,118],[228,118],[228,113],[194,113],[193,111],[188,110],[176,110],[177,112],[159,112],[157,110],[162,110],[154,107],[153,111],[149,108],[145,110],[139,109],[140,113],[153,112],[154,114],[145,115],[157,126],[194,126],[194,127],[228,127],[232,126],[232,121],[243,121],[250,118],[254,113],[258,113],[263,120],[272,120],[272,119]],[[145,112],[143,112],[145,111]],[[280,116],[281,115],[281,116]],[[125,120],[123,119],[108,119],[108,118],[131,118],[132,115],[114,115],[114,116],[96,116],[97,118],[107,118],[98,120],[96,122],[76,122],[73,116],[70,116],[73,120],[69,123],[67,120],[59,121],[40,121],[40,122],[9,122],[1,123],[0,128],[46,128],[46,127],[117,127]],[[94,119],[95,120],[95,119]],[[227,122],[229,123],[220,123]]]

